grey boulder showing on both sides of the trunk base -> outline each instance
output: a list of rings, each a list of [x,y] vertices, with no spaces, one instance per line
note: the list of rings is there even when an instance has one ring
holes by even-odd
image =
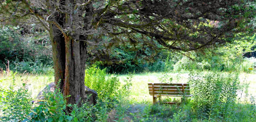
[[[55,84],[54,83],[50,83],[48,85],[46,85],[44,87],[44,89],[42,91],[40,91],[36,97],[37,100],[44,100],[44,94],[43,93],[48,93],[50,92],[54,92],[54,88]],[[85,99],[87,99],[87,102],[89,102],[89,104],[96,104],[96,99],[98,96],[98,93],[90,88],[88,88],[87,86],[84,86],[85,88]],[[88,98],[89,97],[89,98]]]

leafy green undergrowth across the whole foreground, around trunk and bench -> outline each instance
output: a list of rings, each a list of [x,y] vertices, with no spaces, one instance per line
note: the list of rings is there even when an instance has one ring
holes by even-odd
[[[87,70],[86,78],[92,81],[91,87],[99,92],[98,103],[90,105],[84,102],[82,106],[78,107],[77,105],[66,106],[65,98],[58,89],[54,93],[44,94],[46,99],[41,101],[40,105],[33,103],[34,99],[28,90],[29,85],[17,86],[15,83],[20,83],[20,81],[16,80],[14,73],[9,76],[12,80],[12,85],[9,88],[0,85],[0,121],[256,121],[256,99],[249,94],[249,84],[240,83],[238,76],[234,73],[219,72],[191,73],[188,82],[193,97],[186,98],[183,103],[176,105],[153,105],[152,99],[133,99],[130,96],[131,88],[135,87],[131,85],[136,85],[132,82],[132,75],[127,77],[125,82],[120,83],[115,76],[105,78],[104,71],[92,67]],[[168,78],[162,79],[168,80]],[[166,98],[165,100],[177,99]],[[67,111],[68,107],[72,110]]]

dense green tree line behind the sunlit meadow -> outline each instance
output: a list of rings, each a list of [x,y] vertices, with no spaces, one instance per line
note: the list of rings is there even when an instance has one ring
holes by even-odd
[[[0,67],[3,70],[6,70],[5,64],[9,60],[12,71],[52,74],[51,41],[48,32],[38,24],[24,24],[21,27],[1,26],[0,38]],[[105,39],[108,40],[108,37]],[[121,44],[111,48],[113,53],[109,54],[107,59],[89,52],[87,56],[90,60],[87,65],[96,63],[99,68],[106,68],[107,73],[117,74],[181,70],[251,72],[256,66],[256,60],[252,55],[256,49],[255,45],[255,36],[248,36],[204,52],[184,54],[185,52],[159,50],[150,57],[153,51],[149,48],[142,53],[140,46],[132,49],[134,47],[130,44]],[[100,51],[103,48],[98,46],[96,49]],[[96,52],[95,49],[93,51]]]

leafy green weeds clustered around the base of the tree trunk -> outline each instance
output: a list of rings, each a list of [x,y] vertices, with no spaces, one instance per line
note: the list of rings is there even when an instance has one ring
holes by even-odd
[[[87,75],[89,74],[87,73]],[[104,87],[92,83],[95,85],[94,90],[106,93],[100,94],[96,105],[89,105],[86,102],[82,102],[81,106],[67,104],[60,89],[45,93],[43,101],[33,104],[35,101],[31,98],[28,85],[23,84],[23,87],[15,89],[15,75],[12,76],[13,84],[9,89],[0,87],[0,121],[3,122],[106,122],[108,112],[116,107],[118,101],[126,100],[129,97],[132,85],[132,75],[125,81],[126,84],[120,87],[118,78],[105,80],[106,74],[104,74],[101,75],[103,78],[99,76],[104,79],[99,82],[104,83]]]

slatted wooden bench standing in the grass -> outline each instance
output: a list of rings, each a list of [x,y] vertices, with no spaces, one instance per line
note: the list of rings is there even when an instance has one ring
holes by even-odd
[[[148,83],[149,94],[153,96],[153,104],[161,96],[190,97],[189,84],[168,84],[168,83]],[[174,102],[161,102],[166,104],[176,104]]]

